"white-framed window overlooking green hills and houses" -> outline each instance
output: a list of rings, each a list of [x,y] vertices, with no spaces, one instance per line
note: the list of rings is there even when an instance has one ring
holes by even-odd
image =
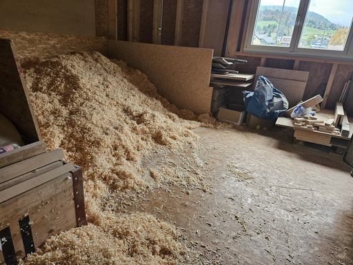
[[[245,52],[353,59],[353,1],[254,0]]]

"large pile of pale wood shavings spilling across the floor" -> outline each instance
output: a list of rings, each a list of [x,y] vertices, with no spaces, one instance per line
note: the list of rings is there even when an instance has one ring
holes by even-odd
[[[92,223],[53,237],[26,264],[190,263],[195,253],[179,244],[174,226],[146,214],[117,217],[102,210],[101,199],[119,190],[143,189],[141,157],[152,146],[180,148],[197,137],[192,128],[219,124],[207,114],[197,117],[177,109],[139,70],[99,52],[21,64],[48,150],[62,148],[68,161],[83,167],[86,214]],[[150,239],[140,232],[126,234],[140,226]],[[157,242],[151,244],[152,239]]]

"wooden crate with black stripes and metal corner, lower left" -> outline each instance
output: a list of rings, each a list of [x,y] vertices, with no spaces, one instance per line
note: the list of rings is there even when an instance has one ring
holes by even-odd
[[[17,264],[48,237],[87,224],[82,168],[59,157],[61,149],[0,168],[0,262]]]

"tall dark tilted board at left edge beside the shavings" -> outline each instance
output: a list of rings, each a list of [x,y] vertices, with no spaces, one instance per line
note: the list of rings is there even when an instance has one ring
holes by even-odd
[[[29,143],[41,141],[41,133],[14,43],[0,39],[0,112]]]

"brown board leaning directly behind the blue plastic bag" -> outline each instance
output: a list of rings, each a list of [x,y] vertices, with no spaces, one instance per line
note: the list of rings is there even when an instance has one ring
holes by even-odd
[[[290,104],[289,108],[296,106],[296,104],[303,99],[306,81],[295,81],[274,77],[268,77],[268,80],[272,83],[274,88],[278,89],[283,95],[285,95]]]

